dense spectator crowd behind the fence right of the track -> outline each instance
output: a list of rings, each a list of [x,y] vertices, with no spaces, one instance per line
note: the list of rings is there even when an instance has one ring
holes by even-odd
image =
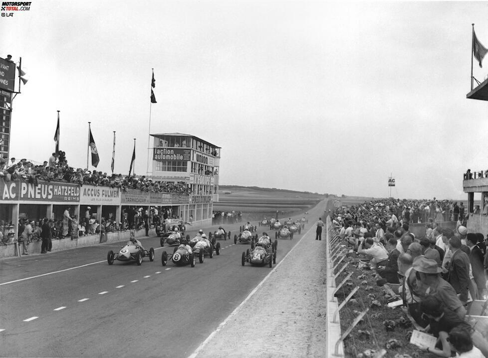
[[[358,267],[376,270],[376,284],[396,288],[415,327],[437,338],[423,351],[488,357],[488,332],[467,316],[488,298],[488,236],[468,232],[463,203],[390,198],[336,208],[331,218]],[[410,231],[418,223],[422,235]]]

